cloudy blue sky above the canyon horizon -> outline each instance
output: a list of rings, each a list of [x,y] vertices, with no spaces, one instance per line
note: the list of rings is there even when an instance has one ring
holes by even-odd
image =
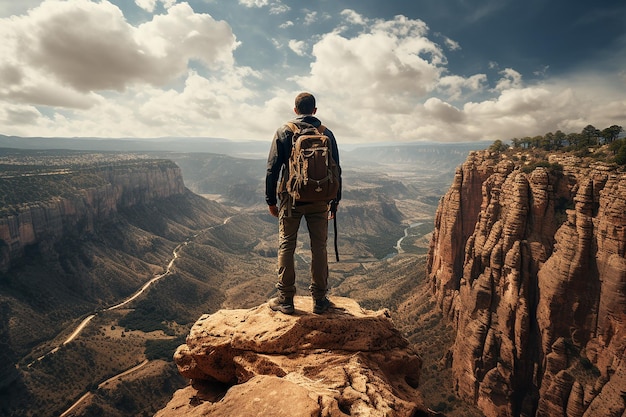
[[[0,134],[339,143],[626,127],[622,0],[0,0]]]

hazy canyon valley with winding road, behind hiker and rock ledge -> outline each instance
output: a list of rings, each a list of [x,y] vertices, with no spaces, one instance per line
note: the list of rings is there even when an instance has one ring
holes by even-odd
[[[198,317],[252,308],[271,295],[277,230],[255,197],[262,162],[201,153],[4,149],[0,156],[0,414],[154,414],[185,385],[172,355]],[[441,157],[451,163],[448,153]],[[342,261],[330,277],[337,295],[378,310],[398,280],[412,286],[397,271],[423,263],[432,226],[411,228],[403,253],[381,259],[412,223],[432,224],[448,181],[435,166],[418,175],[412,164],[391,174],[387,166],[346,165]],[[298,256],[305,291],[306,245]],[[364,282],[371,279],[385,290]]]

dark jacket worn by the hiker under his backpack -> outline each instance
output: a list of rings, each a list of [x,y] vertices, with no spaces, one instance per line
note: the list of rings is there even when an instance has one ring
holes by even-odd
[[[322,124],[317,117],[312,115],[298,116],[291,122],[296,125],[308,123],[315,127],[319,127]],[[339,150],[333,132],[326,128],[324,134],[330,139],[332,156],[339,169],[339,192],[337,193],[337,198],[335,198],[335,202],[338,203],[339,200],[341,200],[341,165],[339,164]],[[292,137],[293,132],[289,130],[287,125],[283,125],[278,128],[274,134],[274,139],[272,139],[272,147],[267,157],[267,172],[265,175],[265,201],[270,206],[276,205],[278,202],[276,194],[281,173],[283,176],[288,175],[286,171],[288,169],[289,157],[291,156]]]

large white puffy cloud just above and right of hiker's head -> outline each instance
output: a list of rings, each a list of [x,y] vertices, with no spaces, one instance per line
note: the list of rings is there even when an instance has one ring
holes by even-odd
[[[355,13],[349,21],[364,21]],[[311,73],[296,77],[302,87],[332,91],[350,106],[378,112],[405,112],[415,97],[432,91],[440,78],[445,57],[425,35],[420,20],[397,16],[370,22],[355,37],[332,32],[313,46]]]

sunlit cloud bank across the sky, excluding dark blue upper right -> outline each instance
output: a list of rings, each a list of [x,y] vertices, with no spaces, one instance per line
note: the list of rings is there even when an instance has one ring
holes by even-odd
[[[214,17],[212,2],[134,3],[132,19],[114,2],[88,0],[33,2],[0,18],[0,134],[269,140],[302,90],[316,94],[318,115],[346,143],[495,140],[626,122],[623,75],[550,78],[546,66],[538,79],[495,62],[454,73],[449,60],[463,39],[402,14],[288,17],[295,6],[279,1],[233,2],[259,13],[259,25],[272,19],[261,28],[253,15],[245,27]],[[255,51],[263,60],[245,53],[260,45],[274,50]]]

